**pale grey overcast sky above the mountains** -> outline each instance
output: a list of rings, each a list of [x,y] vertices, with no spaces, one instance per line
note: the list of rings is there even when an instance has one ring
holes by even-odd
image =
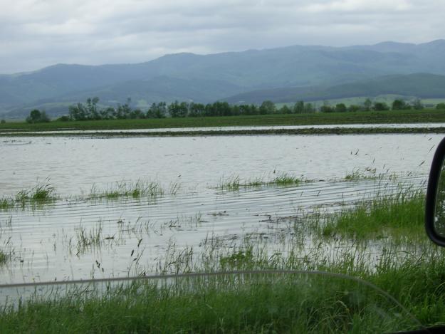
[[[445,0],[0,0],[0,73],[445,38]]]

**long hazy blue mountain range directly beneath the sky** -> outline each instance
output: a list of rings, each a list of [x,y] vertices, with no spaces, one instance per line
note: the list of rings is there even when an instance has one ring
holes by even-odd
[[[59,64],[0,75],[0,113],[14,116],[33,106],[72,103],[90,96],[98,96],[105,105],[132,98],[135,105],[144,106],[175,99],[211,102],[273,88],[319,90],[322,85],[331,88],[383,75],[445,75],[443,59],[445,41],[437,40],[417,45],[288,46],[206,56],[178,53],[137,64]],[[60,107],[56,113],[61,113]]]

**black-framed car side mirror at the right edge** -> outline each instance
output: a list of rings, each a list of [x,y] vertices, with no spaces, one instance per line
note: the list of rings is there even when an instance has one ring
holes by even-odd
[[[429,239],[445,246],[445,138],[434,153],[426,189],[425,229]]]

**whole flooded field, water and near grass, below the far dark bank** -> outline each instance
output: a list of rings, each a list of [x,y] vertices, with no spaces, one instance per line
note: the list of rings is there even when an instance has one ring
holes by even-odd
[[[444,254],[423,228],[441,137],[4,137],[0,281],[60,284],[0,288],[0,326],[315,333],[441,323]],[[248,273],[168,276],[217,271]],[[300,271],[364,279],[397,301]],[[123,281],[152,275],[161,277]],[[61,283],[70,280],[85,283]]]

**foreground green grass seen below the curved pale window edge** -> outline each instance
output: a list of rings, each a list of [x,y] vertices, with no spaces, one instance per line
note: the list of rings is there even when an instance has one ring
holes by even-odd
[[[304,275],[133,283],[86,296],[6,308],[2,333],[375,333],[414,325],[397,308],[376,313],[394,305],[370,288]]]

